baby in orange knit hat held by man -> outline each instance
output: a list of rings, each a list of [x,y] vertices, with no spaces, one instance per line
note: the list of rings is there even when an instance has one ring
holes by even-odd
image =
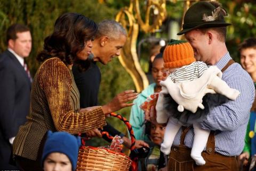
[[[199,123],[213,107],[229,99],[236,100],[239,91],[229,88],[221,80],[222,72],[216,66],[208,67],[204,62],[196,62],[193,48],[186,41],[172,40],[166,46],[163,58],[169,75],[161,81],[156,117],[157,123],[168,123],[161,151],[169,155],[180,127],[193,125],[195,136],[191,158],[197,165],[204,165],[201,153],[210,131],[203,130]]]

